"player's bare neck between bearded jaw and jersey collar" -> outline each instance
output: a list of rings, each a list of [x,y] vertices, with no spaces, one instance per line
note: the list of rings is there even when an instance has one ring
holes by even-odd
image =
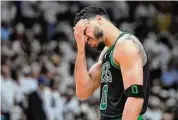
[[[112,24],[107,27],[105,34],[105,46],[111,47],[120,35],[120,30]]]

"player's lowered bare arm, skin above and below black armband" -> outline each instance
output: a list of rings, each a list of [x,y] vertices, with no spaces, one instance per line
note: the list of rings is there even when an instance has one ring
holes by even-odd
[[[116,63],[120,65],[125,90],[134,84],[143,85],[142,56],[133,40],[118,41],[113,56]],[[141,97],[128,97],[122,120],[137,120],[143,101]]]

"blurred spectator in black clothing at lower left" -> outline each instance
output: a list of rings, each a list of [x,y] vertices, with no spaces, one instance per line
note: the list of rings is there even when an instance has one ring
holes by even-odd
[[[45,79],[38,80],[38,89],[28,97],[27,120],[48,120],[44,108]]]

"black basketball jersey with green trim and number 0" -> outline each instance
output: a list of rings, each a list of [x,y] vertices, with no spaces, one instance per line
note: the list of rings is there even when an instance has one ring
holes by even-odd
[[[116,42],[129,33],[121,33]],[[115,42],[115,44],[116,44]],[[100,113],[101,120],[120,120],[122,117],[125,102],[124,85],[119,66],[113,61],[113,50],[115,44],[104,54],[101,72],[101,92],[100,92]],[[148,60],[143,66],[145,98],[142,108],[143,114],[146,111],[149,96],[149,63]]]

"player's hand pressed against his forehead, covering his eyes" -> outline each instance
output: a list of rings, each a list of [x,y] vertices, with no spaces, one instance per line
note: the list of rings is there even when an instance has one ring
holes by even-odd
[[[73,28],[74,29],[74,37],[77,42],[78,50],[85,49],[85,36],[84,36],[84,30],[86,26],[88,25],[87,19],[81,19]]]

